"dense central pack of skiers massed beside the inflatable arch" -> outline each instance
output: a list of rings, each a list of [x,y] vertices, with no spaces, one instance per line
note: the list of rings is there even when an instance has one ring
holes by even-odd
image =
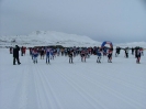
[[[74,63],[74,57],[80,55],[81,62],[86,62],[90,55],[97,55],[97,63],[101,63],[101,57],[108,56],[108,62],[112,63],[112,52],[113,48],[106,47],[65,47],[65,48],[55,48],[55,47],[31,47],[30,55],[32,56],[33,63],[37,63],[37,57],[41,56],[41,59],[44,59],[46,56],[46,64],[49,64],[49,58],[54,59],[56,56],[68,56],[69,63]]]

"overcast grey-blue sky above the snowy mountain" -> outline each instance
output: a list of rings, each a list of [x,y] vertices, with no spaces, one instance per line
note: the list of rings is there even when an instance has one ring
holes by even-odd
[[[146,0],[0,0],[0,36],[36,30],[146,42]]]

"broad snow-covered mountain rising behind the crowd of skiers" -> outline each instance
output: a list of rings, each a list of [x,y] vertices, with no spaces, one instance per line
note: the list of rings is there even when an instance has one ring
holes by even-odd
[[[88,36],[67,34],[55,31],[34,31],[29,35],[1,36],[0,45],[64,45],[64,46],[91,46],[100,45]]]

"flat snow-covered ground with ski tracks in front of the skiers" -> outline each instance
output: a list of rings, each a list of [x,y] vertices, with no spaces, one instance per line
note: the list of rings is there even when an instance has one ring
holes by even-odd
[[[141,64],[123,51],[112,64],[57,56],[46,65],[33,64],[27,51],[15,66],[9,50],[0,57],[0,109],[146,109],[146,56]]]

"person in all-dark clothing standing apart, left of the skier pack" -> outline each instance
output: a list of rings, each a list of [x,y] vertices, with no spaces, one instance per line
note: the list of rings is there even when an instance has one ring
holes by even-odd
[[[20,47],[15,45],[15,47],[13,48],[13,65],[15,65],[15,59],[18,61],[18,65],[21,64],[19,58],[19,51],[20,51]]]

